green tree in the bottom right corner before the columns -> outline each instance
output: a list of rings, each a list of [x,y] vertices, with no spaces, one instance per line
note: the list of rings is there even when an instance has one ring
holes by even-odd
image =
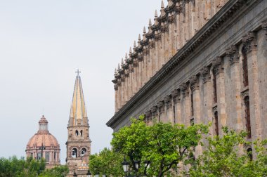
[[[244,145],[249,143],[245,140],[247,133],[223,128],[223,136],[208,138],[207,150],[197,158],[195,166],[192,166],[190,176],[266,176],[267,157],[266,140],[256,140],[254,147],[256,157],[251,160],[251,153],[241,151]]]

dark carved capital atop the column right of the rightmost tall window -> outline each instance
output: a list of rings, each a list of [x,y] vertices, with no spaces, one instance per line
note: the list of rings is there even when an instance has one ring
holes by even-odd
[[[246,36],[244,36],[242,38],[242,42],[242,53],[249,53],[250,51],[256,50],[256,34],[254,32],[249,32]]]

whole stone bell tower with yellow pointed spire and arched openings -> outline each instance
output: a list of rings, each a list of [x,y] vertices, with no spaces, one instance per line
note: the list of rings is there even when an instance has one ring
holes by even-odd
[[[67,125],[67,166],[70,172],[68,176],[74,173],[81,173],[81,169],[88,170],[89,155],[91,152],[91,140],[89,138],[89,122],[84,103],[84,93],[82,90],[82,81],[77,70],[74,91],[72,96],[72,105],[70,107],[70,118]],[[86,171],[87,172],[87,171]],[[81,173],[82,174],[82,173]]]

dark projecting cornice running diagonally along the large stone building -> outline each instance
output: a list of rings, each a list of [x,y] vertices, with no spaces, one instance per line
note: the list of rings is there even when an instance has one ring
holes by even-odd
[[[139,91],[136,93],[131,100],[129,100],[126,105],[119,109],[118,112],[107,122],[107,126],[115,128],[121,119],[124,119],[126,112],[130,112],[133,108],[133,105],[138,103],[147,93],[151,92],[151,89],[154,88],[163,79],[169,76],[174,68],[178,67],[188,55],[193,53],[196,48],[202,48],[202,44],[211,38],[214,32],[218,31],[226,21],[228,21],[233,15],[240,10],[240,8],[247,9],[253,5],[253,1],[244,1],[244,0],[233,0],[228,1],[225,6],[221,8],[220,11],[214,15],[205,25],[202,27],[193,37],[188,41],[183,48],[181,48],[176,55],[174,55],[171,60],[169,60],[159,72],[157,72],[152,79],[150,79]],[[157,18],[159,22],[159,18]]]

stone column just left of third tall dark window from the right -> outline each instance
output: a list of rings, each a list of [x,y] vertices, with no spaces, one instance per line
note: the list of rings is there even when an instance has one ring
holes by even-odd
[[[188,86],[186,83],[181,84],[180,90],[182,93],[181,99],[181,115],[182,115],[182,122],[185,126],[190,125],[190,98],[189,98],[189,91]]]

